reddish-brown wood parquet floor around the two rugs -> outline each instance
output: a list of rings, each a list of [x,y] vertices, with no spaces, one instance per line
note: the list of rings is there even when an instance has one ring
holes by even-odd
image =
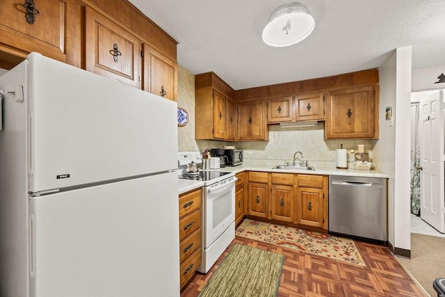
[[[200,293],[234,243],[285,256],[278,297],[426,296],[385,246],[355,241],[366,263],[366,267],[362,267],[236,236],[209,273],[197,273],[181,290],[181,297]]]

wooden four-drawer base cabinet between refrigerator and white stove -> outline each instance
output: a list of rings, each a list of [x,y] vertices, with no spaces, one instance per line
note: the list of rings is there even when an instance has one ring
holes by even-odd
[[[179,196],[180,286],[195,275],[201,265],[201,188]]]

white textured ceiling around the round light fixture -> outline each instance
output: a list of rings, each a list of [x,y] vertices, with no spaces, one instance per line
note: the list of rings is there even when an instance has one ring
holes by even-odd
[[[379,67],[412,46],[412,68],[445,65],[445,0],[302,0],[315,18],[291,47],[261,40],[284,0],[129,0],[177,40],[178,63],[235,90]],[[439,75],[439,74],[438,74]]]

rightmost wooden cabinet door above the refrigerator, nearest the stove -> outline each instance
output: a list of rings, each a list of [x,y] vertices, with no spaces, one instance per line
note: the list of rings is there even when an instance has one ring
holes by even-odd
[[[143,45],[143,90],[177,101],[177,63]]]

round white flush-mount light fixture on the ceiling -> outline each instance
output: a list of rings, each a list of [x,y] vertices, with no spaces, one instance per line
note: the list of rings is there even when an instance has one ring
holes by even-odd
[[[284,4],[273,10],[263,29],[263,41],[272,47],[295,45],[314,31],[315,20],[303,3]]]

